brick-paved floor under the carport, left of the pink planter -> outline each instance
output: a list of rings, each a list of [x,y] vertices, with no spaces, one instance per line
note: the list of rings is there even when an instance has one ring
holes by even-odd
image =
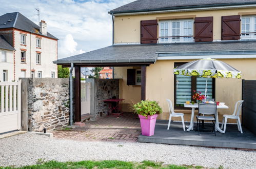
[[[141,134],[140,119],[132,113],[86,121],[86,126],[53,131],[54,138],[77,141],[137,141]]]

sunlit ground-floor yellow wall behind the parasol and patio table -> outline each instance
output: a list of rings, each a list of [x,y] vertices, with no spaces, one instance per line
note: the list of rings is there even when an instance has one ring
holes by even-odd
[[[242,71],[242,79],[256,79],[255,70],[256,59],[220,59],[234,68]],[[160,119],[168,119],[168,105],[166,99],[169,98],[174,104],[174,62],[188,62],[192,60],[157,60],[155,64],[147,67],[146,75],[146,99],[160,102],[163,114]],[[232,114],[234,104],[242,99],[242,79],[216,79],[215,98],[216,101],[225,102],[229,109],[220,109],[219,114]],[[185,113],[185,120],[190,120],[191,110],[175,110]],[[219,116],[220,120],[222,116]],[[176,118],[176,120],[181,120]],[[229,121],[233,122],[233,121]]]

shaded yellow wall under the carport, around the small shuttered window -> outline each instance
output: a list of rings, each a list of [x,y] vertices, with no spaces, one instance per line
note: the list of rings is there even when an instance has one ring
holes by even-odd
[[[115,67],[114,78],[121,78],[120,82],[120,98],[124,98],[122,101],[122,111],[133,112],[131,109],[131,103],[136,103],[141,100],[141,87],[127,85],[127,69],[140,69],[134,67]]]

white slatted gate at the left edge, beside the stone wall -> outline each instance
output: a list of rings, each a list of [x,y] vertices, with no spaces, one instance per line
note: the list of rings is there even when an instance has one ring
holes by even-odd
[[[0,134],[21,129],[21,80],[0,82]]]

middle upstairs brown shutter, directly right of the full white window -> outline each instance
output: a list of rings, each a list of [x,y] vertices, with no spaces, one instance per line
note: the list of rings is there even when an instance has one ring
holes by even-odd
[[[213,17],[194,18],[194,41],[213,40]]]

